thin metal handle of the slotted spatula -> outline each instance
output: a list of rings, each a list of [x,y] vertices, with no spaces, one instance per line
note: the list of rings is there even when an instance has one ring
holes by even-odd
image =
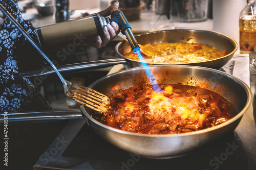
[[[36,48],[36,50],[46,59],[46,61],[53,67],[53,69],[56,71],[57,75],[59,76],[61,82],[67,86],[66,80],[61,76],[58,69],[55,67],[53,62],[45,55],[44,52],[41,51],[41,49],[37,46],[37,44],[34,42],[34,40],[29,36],[29,34],[23,29],[22,26],[19,25],[19,23],[13,18],[13,16],[5,9],[5,7],[0,4],[1,11],[13,22],[13,24],[17,27],[17,29],[22,32],[22,34],[29,40],[29,42]]]

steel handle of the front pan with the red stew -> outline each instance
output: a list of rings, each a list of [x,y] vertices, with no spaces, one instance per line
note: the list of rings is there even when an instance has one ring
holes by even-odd
[[[26,122],[35,120],[60,120],[60,119],[87,119],[80,109],[69,110],[47,110],[34,112],[1,113],[0,123],[5,122]]]

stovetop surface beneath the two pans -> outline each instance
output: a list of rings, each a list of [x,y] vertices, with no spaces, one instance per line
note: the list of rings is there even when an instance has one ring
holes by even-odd
[[[249,57],[236,56],[220,69],[250,86]],[[234,132],[188,155],[148,159],[116,148],[95,134],[86,119],[72,119],[35,163],[35,169],[255,169],[253,108]]]

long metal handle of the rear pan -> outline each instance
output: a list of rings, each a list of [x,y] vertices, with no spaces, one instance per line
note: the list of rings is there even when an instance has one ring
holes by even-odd
[[[108,60],[99,60],[99,61],[91,61],[91,62],[83,62],[83,63],[75,63],[75,64],[67,64],[57,67],[59,72],[63,73],[74,73],[74,72],[82,72],[89,71],[92,69],[109,67],[117,64],[125,64],[126,61],[124,59],[108,59]],[[39,69],[27,72],[18,72],[15,74],[15,77],[33,77],[33,76],[42,76],[55,73],[55,70],[48,69]]]

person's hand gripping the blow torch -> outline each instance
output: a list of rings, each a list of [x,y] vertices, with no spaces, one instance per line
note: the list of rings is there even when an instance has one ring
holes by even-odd
[[[116,3],[112,4],[109,8],[107,8],[103,11],[100,11],[98,14],[100,16],[109,16],[111,9],[118,8],[118,6],[119,6],[119,2],[116,2]],[[103,40],[100,38],[100,36],[97,36],[95,42],[88,43],[88,45],[94,46],[96,48],[105,46],[107,43],[110,42],[110,40],[114,39],[116,37],[116,35],[119,34],[120,30],[119,30],[119,26],[117,25],[117,23],[112,22],[111,25],[108,23],[103,28],[103,32],[104,32]]]

